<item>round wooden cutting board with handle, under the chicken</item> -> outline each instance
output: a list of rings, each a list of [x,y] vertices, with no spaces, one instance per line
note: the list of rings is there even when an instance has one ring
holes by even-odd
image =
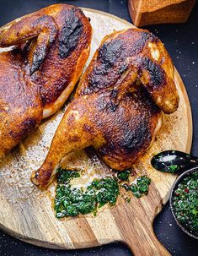
[[[91,18],[94,29],[90,58],[104,35],[132,27],[110,14],[86,8],[83,11]],[[176,70],[175,83],[179,90],[179,109],[172,115],[163,116],[163,128],[156,141],[142,161],[134,166],[138,174],[147,173],[152,178],[147,196],[136,199],[131,195],[131,203],[119,197],[114,207],[104,206],[96,217],[85,215],[58,221],[51,204],[54,187],[40,192],[29,177],[45,159],[62,119],[63,112],[60,111],[41,123],[1,164],[0,228],[25,242],[46,248],[87,248],[120,241],[125,242],[135,255],[169,255],[153,233],[153,219],[167,202],[175,177],[155,171],[150,166],[150,158],[161,150],[190,152],[190,103]],[[91,155],[83,150],[68,155],[65,165],[85,169],[89,180],[96,174],[104,175],[107,170],[94,151]],[[83,178],[86,180],[87,177]]]

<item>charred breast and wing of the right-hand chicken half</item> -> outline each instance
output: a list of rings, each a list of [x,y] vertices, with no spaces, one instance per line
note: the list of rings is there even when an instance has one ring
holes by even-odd
[[[164,113],[176,111],[179,96],[174,84],[174,65],[157,36],[130,29],[107,35],[78,87],[78,95],[119,88],[125,94],[139,80]],[[124,84],[124,86],[123,86]]]

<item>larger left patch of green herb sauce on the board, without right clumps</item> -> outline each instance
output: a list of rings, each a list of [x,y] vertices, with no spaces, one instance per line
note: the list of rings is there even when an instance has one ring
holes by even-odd
[[[76,216],[78,214],[97,213],[98,207],[110,203],[114,205],[119,194],[119,185],[115,177],[94,179],[83,191],[83,188],[72,188],[72,178],[80,177],[77,171],[59,169],[54,209],[56,218]]]

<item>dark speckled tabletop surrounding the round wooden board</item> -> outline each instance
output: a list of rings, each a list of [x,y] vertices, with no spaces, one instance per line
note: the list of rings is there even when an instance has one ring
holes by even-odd
[[[87,8],[95,8],[122,19],[131,21],[127,9],[127,1],[123,0],[0,0],[0,25],[28,14],[52,3],[70,3]],[[190,97],[192,114],[194,118],[194,139],[192,153],[198,155],[198,4],[195,5],[189,21],[184,25],[155,25],[149,26],[155,35],[164,42],[174,65],[181,75]],[[0,211],[1,214],[1,211]],[[187,237],[176,226],[169,210],[165,205],[161,214],[154,221],[154,230],[158,239],[176,256],[195,256],[198,252],[198,241]],[[75,251],[58,251],[38,248],[8,236],[0,231],[0,255],[26,255],[26,256],[129,256],[131,252],[126,246],[113,243],[99,248],[89,248]],[[142,252],[142,256],[144,252]]]

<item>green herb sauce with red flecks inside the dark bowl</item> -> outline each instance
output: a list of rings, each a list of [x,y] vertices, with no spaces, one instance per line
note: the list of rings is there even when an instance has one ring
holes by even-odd
[[[179,183],[173,196],[174,214],[187,231],[198,236],[198,171]]]

